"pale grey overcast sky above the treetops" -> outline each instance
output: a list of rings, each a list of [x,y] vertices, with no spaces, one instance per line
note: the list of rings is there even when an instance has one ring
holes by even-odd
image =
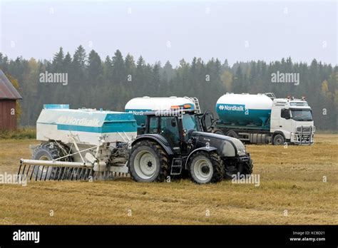
[[[148,63],[212,57],[337,64],[337,1],[4,1],[0,52],[53,58],[82,44]]]

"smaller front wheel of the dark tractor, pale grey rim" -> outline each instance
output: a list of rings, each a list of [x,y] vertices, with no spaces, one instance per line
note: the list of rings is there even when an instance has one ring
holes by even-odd
[[[190,179],[198,184],[219,182],[223,179],[223,161],[217,153],[204,151],[195,153],[191,157],[188,167]]]

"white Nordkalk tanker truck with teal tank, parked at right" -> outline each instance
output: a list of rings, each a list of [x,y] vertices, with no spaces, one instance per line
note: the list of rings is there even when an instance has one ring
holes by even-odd
[[[314,143],[312,110],[304,98],[275,98],[273,93],[226,93],[217,100],[216,111],[220,120],[214,133],[245,143]]]

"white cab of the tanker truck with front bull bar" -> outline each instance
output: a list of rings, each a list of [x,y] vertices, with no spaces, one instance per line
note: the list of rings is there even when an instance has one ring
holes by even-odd
[[[304,98],[273,99],[270,118],[270,133],[275,145],[285,142],[295,145],[314,143],[312,110]]]

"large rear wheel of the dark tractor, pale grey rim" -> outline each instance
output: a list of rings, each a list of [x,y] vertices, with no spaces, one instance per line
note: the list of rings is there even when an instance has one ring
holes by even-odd
[[[163,182],[169,171],[168,155],[157,143],[142,140],[133,145],[129,170],[136,182]]]

